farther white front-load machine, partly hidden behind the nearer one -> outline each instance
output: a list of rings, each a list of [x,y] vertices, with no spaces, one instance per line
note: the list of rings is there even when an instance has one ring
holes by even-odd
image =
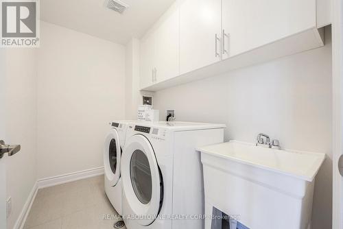
[[[104,145],[105,192],[119,215],[121,211],[121,154],[126,140],[126,128],[130,121],[113,121]]]

